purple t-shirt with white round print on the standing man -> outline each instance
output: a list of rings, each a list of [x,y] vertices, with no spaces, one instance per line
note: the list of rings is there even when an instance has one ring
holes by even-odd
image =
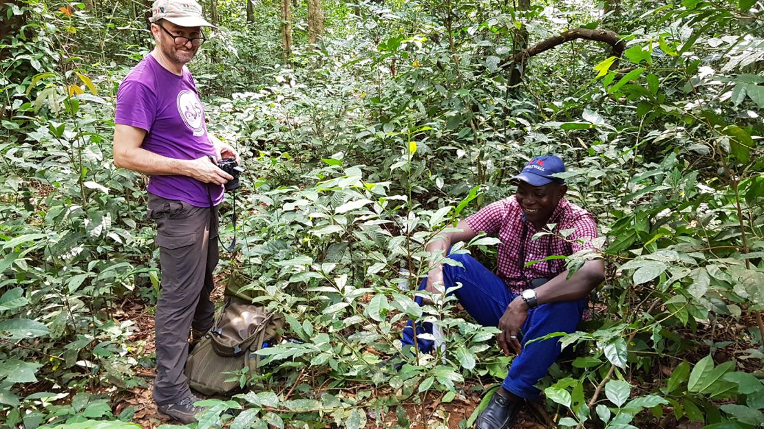
[[[119,85],[115,122],[146,130],[141,147],[159,155],[178,160],[215,156],[204,106],[185,66],[183,76],[177,76],[147,55]],[[148,192],[196,207],[209,207],[210,197],[215,205],[223,199],[222,185],[189,176],[151,176]]]

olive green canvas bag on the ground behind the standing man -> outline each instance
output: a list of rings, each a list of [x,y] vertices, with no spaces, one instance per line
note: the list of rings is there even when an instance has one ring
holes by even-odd
[[[238,391],[241,384],[232,373],[248,367],[248,373],[256,374],[261,356],[254,352],[277,338],[282,327],[283,318],[261,305],[228,298],[215,328],[196,344],[186,360],[189,386],[202,395]]]

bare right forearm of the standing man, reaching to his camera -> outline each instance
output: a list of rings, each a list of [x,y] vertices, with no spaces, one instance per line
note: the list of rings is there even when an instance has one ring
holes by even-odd
[[[196,160],[176,160],[141,148],[146,131],[117,124],[114,130],[114,164],[147,175],[189,176],[199,182],[222,185],[233,179],[206,156]]]

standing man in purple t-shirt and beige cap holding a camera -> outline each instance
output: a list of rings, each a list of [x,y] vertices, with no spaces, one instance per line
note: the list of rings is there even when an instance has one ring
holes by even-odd
[[[151,34],[156,47],[119,86],[114,163],[150,176],[148,216],[157,222],[162,292],[155,319],[160,413],[184,424],[203,408],[194,406],[183,366],[188,335],[212,327],[209,301],[218,263],[218,212],[223,184],[233,179],[215,163],[238,153],[207,133],[204,107],[186,63],[205,41],[195,0],[157,0]],[[215,161],[213,161],[215,160]]]

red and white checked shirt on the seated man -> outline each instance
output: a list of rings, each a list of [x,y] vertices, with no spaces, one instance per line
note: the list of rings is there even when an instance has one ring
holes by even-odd
[[[523,216],[523,209],[515,197],[506,198],[485,206],[480,211],[466,219],[474,232],[484,231],[497,235],[501,243],[498,245],[497,276],[499,276],[512,292],[520,293],[526,289],[523,274],[520,272],[520,246],[525,246],[525,261],[541,261],[546,256],[570,256],[578,250],[594,247],[591,239],[597,237],[597,224],[588,211],[571,204],[562,198],[552,212],[547,224],[556,224],[554,234],[547,234],[533,240],[533,234],[539,232],[536,227]],[[523,224],[528,227],[525,243]],[[560,231],[573,229],[572,234],[563,239]],[[584,244],[578,240],[583,239]],[[524,264],[523,264],[524,265]],[[565,260],[549,260],[535,263],[523,268],[527,279],[545,277],[552,279],[565,271]]]

